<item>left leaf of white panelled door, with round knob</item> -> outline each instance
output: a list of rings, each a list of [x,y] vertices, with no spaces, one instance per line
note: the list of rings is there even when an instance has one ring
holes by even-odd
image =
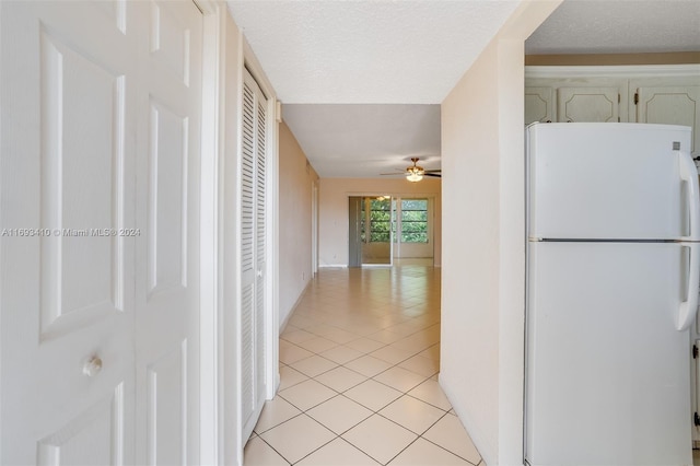
[[[0,464],[130,464],[136,16],[0,16]]]

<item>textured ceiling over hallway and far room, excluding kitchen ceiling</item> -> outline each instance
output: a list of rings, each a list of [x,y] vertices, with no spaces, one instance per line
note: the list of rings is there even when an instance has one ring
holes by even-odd
[[[316,172],[375,177],[411,156],[440,168],[435,104],[518,3],[230,0],[229,8]]]

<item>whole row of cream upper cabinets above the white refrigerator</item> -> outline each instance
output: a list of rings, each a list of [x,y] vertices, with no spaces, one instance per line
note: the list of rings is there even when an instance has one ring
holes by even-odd
[[[700,65],[526,67],[525,124],[533,121],[690,126],[700,156]]]

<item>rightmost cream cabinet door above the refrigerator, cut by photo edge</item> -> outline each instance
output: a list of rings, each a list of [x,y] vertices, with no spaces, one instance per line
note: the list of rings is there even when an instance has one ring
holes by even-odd
[[[692,127],[691,152],[700,155],[700,85],[640,86],[633,100],[639,123]]]

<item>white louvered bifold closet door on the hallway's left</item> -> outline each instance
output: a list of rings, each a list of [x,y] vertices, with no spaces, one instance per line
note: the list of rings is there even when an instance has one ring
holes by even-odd
[[[243,440],[265,400],[265,151],[267,100],[244,71],[241,151],[241,412]]]

